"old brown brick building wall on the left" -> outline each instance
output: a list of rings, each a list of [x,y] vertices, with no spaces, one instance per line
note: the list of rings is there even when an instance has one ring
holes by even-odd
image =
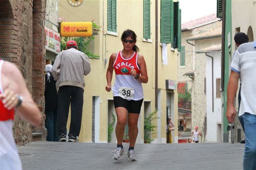
[[[0,0],[0,48],[15,63],[41,112],[44,112],[44,25],[46,0]],[[42,122],[44,127],[44,122]],[[17,144],[32,141],[33,128],[15,115]]]

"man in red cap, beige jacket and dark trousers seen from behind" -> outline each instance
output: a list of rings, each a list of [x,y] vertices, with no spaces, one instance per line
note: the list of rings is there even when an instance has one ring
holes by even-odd
[[[81,129],[84,93],[84,75],[91,72],[87,55],[77,50],[77,42],[70,40],[67,50],[57,55],[51,74],[56,80],[58,92],[58,135],[59,141],[66,141],[66,127],[69,106],[71,105],[71,124],[68,141],[77,142]]]

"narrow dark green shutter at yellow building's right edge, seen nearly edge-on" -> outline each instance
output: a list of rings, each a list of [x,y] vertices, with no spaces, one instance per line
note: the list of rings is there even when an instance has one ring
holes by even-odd
[[[174,48],[180,51],[181,49],[181,9],[179,2],[174,2]]]

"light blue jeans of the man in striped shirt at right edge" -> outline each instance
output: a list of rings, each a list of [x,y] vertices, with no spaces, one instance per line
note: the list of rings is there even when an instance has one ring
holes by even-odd
[[[244,133],[246,142],[244,145],[244,170],[256,170],[256,115],[245,112]]]

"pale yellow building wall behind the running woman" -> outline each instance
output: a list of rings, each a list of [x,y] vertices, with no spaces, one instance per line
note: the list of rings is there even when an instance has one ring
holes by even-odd
[[[79,7],[70,6],[66,0],[59,1],[59,17],[64,17],[66,21],[91,21],[102,26],[100,35],[96,35],[94,40],[94,54],[100,55],[100,59],[90,59],[91,73],[85,76],[84,106],[82,115],[82,127],[79,141],[91,142],[91,122],[92,122],[92,96],[100,96],[100,141],[107,141],[108,109],[107,100],[112,99],[112,92],[106,92],[106,69],[109,57],[112,53],[120,51],[123,46],[121,35],[125,29],[132,29],[137,35],[136,45],[140,49],[140,54],[144,56],[147,64],[148,83],[143,84],[144,101],[151,101],[151,111],[155,110],[155,2],[151,2],[151,40],[152,43],[143,41],[143,0],[117,1],[117,36],[107,33],[107,1],[105,0],[86,0]],[[162,114],[161,114],[161,138],[166,138],[166,90],[165,80],[177,81],[177,49],[171,51],[168,44],[168,65],[162,64],[162,47],[160,46],[160,1],[159,1],[159,44],[158,44],[158,88],[161,89]],[[104,61],[107,59],[106,66]],[[113,75],[112,85],[115,81]],[[175,116],[176,125],[175,136],[177,136],[177,90],[175,95]],[[142,107],[143,108],[143,107]],[[144,110],[141,110],[141,114]],[[144,116],[141,116],[141,130],[143,130]],[[156,121],[157,122],[157,121]],[[157,130],[156,130],[157,132]],[[157,138],[157,133],[152,135]],[[141,134],[143,140],[143,134]]]

